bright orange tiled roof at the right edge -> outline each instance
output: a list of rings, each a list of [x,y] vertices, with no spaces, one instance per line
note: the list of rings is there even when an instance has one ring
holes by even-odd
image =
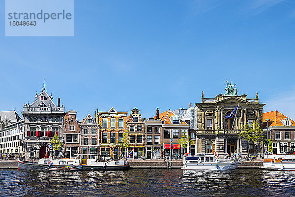
[[[268,122],[268,127],[270,126],[284,126],[282,123],[282,119],[288,118],[287,116],[281,114],[278,111],[269,111],[266,113],[263,113],[263,128],[266,128],[266,119],[270,119]],[[290,119],[291,120],[291,119]],[[295,122],[291,120],[292,126],[295,126]]]

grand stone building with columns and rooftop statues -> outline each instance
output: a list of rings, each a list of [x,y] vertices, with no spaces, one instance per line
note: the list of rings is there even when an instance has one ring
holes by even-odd
[[[242,156],[253,153],[258,157],[263,156],[263,142],[250,142],[239,138],[241,126],[252,125],[253,121],[262,129],[263,106],[259,103],[258,93],[256,98],[248,99],[247,95],[237,96],[236,87],[229,84],[224,95],[215,98],[204,98],[202,92],[201,103],[196,103],[198,108],[197,153],[213,153],[219,157],[227,157],[231,152],[242,153]],[[236,116],[226,118],[239,104]]]

